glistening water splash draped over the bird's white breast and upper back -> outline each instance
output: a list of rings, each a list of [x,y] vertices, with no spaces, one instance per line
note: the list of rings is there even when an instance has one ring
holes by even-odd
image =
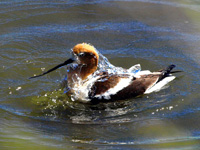
[[[85,80],[82,80],[78,74],[73,74],[72,76],[70,75],[70,73],[72,73],[73,70],[75,70],[75,68],[78,66],[77,64],[71,64],[68,67],[67,76],[65,77],[65,81],[67,83],[65,93],[72,93],[70,94],[72,101],[79,100],[82,102],[89,102],[90,99],[88,98],[88,93],[94,82],[97,80],[98,82],[104,82],[107,80],[106,78],[100,79],[101,76],[99,76],[99,74],[102,72],[106,72],[108,76],[112,76],[113,74],[128,74],[130,76],[134,76],[141,70],[139,64],[134,65],[129,69],[116,67],[111,64],[108,59],[103,56],[99,51],[97,51],[97,53],[99,55],[98,68],[95,73],[88,76],[88,78]]]

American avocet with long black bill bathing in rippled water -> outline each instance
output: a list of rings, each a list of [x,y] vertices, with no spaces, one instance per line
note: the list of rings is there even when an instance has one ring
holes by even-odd
[[[119,69],[114,66],[109,69],[98,69],[99,55],[102,55],[94,46],[86,43],[77,44],[72,49],[72,54],[73,57],[64,63],[31,78],[43,76],[59,67],[71,64],[68,65],[65,80],[68,89],[66,93],[71,98],[84,102],[122,100],[148,94],[159,91],[175,78],[170,74],[175,65],[157,72],[140,71],[137,69],[139,65],[130,69]]]

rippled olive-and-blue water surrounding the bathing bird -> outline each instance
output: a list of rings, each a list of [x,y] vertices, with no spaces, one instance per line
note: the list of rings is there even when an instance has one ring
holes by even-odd
[[[0,149],[198,149],[200,5],[195,0],[0,2]],[[123,68],[176,64],[156,93],[98,106],[67,100],[63,67],[93,44]]]

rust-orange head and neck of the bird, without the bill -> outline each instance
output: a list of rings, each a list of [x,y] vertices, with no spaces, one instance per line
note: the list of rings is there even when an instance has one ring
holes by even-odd
[[[73,48],[73,53],[78,57],[80,64],[83,65],[80,72],[82,79],[86,79],[87,76],[96,71],[99,55],[94,46],[87,43],[77,44]]]

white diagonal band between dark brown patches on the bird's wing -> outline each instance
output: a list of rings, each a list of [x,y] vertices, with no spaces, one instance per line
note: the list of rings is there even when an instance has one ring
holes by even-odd
[[[129,86],[130,83],[132,82],[132,79],[133,79],[133,76],[130,76],[129,78],[121,78],[116,86],[114,86],[113,88],[110,88],[108,91],[106,91],[103,94],[96,95],[95,97],[98,99],[102,99],[102,98],[110,99],[111,95],[114,95],[120,90],[122,90],[123,88]]]

